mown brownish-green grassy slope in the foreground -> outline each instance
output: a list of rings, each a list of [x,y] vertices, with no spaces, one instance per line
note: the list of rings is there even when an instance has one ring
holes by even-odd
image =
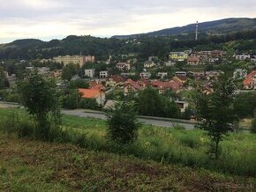
[[[240,191],[255,179],[0,136],[1,191]],[[240,181],[243,181],[240,182]]]

